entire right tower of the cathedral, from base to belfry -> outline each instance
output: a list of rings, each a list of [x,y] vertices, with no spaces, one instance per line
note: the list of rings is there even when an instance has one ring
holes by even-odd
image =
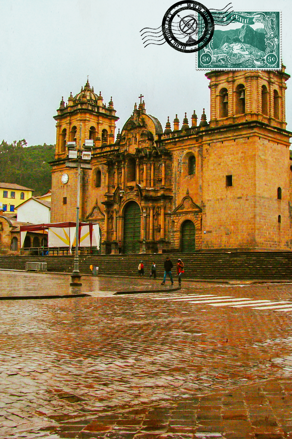
[[[292,249],[292,191],[281,71],[213,71],[204,150],[203,248]],[[208,234],[209,230],[209,234]]]

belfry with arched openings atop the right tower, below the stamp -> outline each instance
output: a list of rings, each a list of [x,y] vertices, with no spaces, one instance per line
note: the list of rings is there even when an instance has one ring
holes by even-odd
[[[290,76],[281,71],[213,71],[210,79],[210,127],[257,120],[283,130],[285,121],[285,82]]]

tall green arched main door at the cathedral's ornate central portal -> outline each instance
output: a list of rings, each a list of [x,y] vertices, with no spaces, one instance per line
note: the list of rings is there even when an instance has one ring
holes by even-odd
[[[139,253],[141,239],[141,211],[139,205],[131,201],[124,212],[124,253]]]

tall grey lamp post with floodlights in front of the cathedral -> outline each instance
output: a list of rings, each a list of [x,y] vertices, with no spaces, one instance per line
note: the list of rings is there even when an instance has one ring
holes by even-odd
[[[83,148],[81,147],[81,130],[82,123],[80,123],[80,143],[79,148],[75,142],[68,142],[68,158],[73,159],[66,162],[68,168],[77,168],[77,200],[76,200],[76,246],[74,256],[74,270],[71,274],[70,285],[82,285],[80,282],[81,274],[79,272],[79,257],[78,257],[78,245],[79,245],[79,204],[80,204],[80,174],[82,169],[91,169],[91,150],[93,147],[93,140],[85,140]]]

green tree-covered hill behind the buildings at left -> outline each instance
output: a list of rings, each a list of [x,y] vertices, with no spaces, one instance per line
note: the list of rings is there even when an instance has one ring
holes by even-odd
[[[25,139],[0,144],[0,182],[15,183],[34,189],[34,196],[51,189],[51,167],[55,145],[26,146]]]

